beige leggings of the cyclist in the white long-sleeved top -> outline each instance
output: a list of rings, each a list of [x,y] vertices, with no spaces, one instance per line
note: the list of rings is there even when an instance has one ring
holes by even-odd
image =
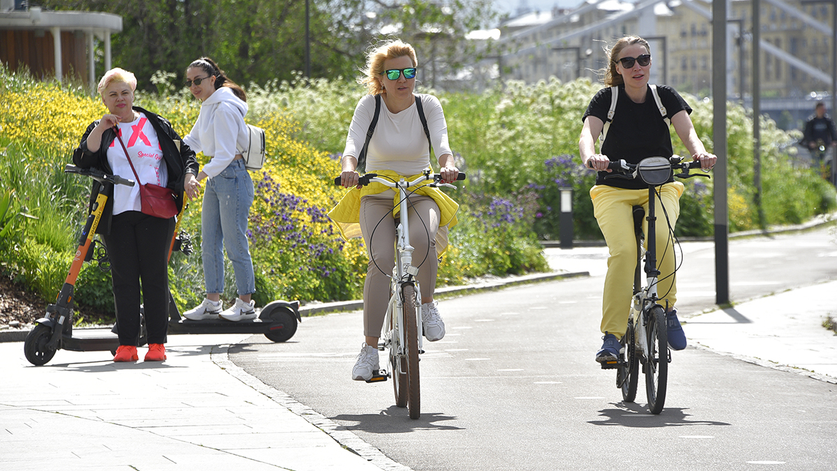
[[[367,279],[363,285],[363,334],[367,337],[381,336],[383,318],[387,314],[389,277],[395,267],[395,222],[392,212],[392,198],[364,196],[361,199],[361,232],[369,256]],[[419,267],[416,278],[424,298],[432,296],[436,287],[439,261],[436,259],[435,238],[439,230],[439,215],[439,205],[429,196],[413,194],[409,197],[413,267]],[[372,241],[369,240],[370,235]]]

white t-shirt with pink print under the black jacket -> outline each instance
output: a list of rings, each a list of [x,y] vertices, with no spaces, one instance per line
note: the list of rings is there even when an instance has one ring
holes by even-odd
[[[140,181],[132,187],[114,185],[114,215],[142,209],[140,183],[160,186],[168,184],[168,170],[166,164],[162,162],[160,141],[157,139],[154,127],[148,122],[148,117],[140,113],[140,117],[133,122],[121,122],[117,126]],[[110,143],[110,148],[107,149],[107,161],[115,175],[136,181],[119,139],[114,139]]]

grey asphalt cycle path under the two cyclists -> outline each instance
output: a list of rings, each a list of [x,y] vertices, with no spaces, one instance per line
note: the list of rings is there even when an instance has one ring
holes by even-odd
[[[715,308],[714,250],[684,245],[684,318]],[[448,333],[425,343],[418,420],[393,405],[390,381],[350,379],[359,311],[306,318],[285,344],[254,336],[230,359],[416,470],[835,467],[834,384],[690,347],[673,353],[659,416],[642,382],[624,403],[614,372],[593,361],[604,253],[547,252],[590,277],[440,303]],[[827,229],[731,241],[729,256],[733,302],[837,278]]]

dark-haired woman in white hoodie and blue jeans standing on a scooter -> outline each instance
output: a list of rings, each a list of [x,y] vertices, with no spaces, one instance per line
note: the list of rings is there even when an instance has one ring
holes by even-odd
[[[186,86],[202,101],[198,122],[183,142],[209,162],[198,173],[195,189],[206,180],[201,213],[203,278],[206,299],[186,313],[191,320],[224,318],[231,321],[256,317],[251,300],[255,288],[253,261],[247,242],[247,220],[253,204],[253,180],[241,153],[247,149],[247,96],[239,85],[207,57],[187,67]],[[223,248],[233,263],[239,298],[221,311]]]

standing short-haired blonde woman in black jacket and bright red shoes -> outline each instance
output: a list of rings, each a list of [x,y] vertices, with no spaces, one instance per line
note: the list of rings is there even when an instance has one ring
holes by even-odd
[[[142,184],[173,189],[180,210],[184,187],[189,198],[197,195],[195,153],[180,142],[165,118],[133,106],[136,77],[131,72],[119,68],[108,70],[97,90],[108,112],[87,127],[73,152],[73,163],[133,180],[132,164]],[[98,187],[94,185],[95,189]],[[136,344],[140,336],[140,303],[145,306],[148,335],[145,360],[166,360],[167,267],[174,218],[142,213],[139,184],[132,187],[105,184],[104,191],[109,198],[96,232],[105,240],[113,278],[119,334],[119,348],[113,360],[139,360]],[[90,194],[91,206],[97,197],[97,191]]]

